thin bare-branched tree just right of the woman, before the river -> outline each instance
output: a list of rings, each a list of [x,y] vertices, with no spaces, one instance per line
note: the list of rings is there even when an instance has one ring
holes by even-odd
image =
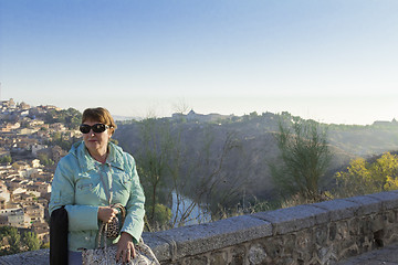
[[[243,180],[231,181],[223,171],[228,155],[238,146],[234,134],[227,132],[223,142],[216,142],[214,131],[203,129],[197,145],[193,145],[185,138],[189,136],[187,131],[190,127],[184,120],[172,123],[147,118],[139,126],[142,142],[137,159],[151,226],[167,226],[166,223],[157,223],[157,215],[161,213],[165,216],[165,206],[160,208],[160,204],[175,210],[169,222],[174,227],[192,219],[208,221],[210,208],[205,208],[196,216],[192,215],[193,210],[199,209],[202,202],[223,203],[238,194]],[[228,190],[222,189],[228,181],[233,184]]]

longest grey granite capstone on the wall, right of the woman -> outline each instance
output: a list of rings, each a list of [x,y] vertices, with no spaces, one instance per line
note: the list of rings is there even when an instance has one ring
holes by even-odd
[[[272,235],[269,222],[242,215],[154,233],[175,244],[172,258],[197,255]]]

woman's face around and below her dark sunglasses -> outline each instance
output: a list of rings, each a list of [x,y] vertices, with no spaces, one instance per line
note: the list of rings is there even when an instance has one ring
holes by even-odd
[[[101,124],[97,120],[85,120],[83,124],[93,126]],[[103,132],[94,132],[93,129],[88,134],[83,134],[83,141],[91,153],[100,152],[104,155],[107,151],[107,144],[111,138],[109,129],[105,129]]]

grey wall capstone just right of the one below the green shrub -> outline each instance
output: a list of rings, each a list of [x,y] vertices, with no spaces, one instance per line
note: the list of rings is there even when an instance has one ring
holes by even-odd
[[[359,203],[347,201],[345,199],[324,201],[312,205],[327,211],[332,222],[353,218],[360,206]]]

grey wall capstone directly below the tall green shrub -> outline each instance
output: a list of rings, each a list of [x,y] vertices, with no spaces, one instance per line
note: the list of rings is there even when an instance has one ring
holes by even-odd
[[[254,213],[252,216],[271,222],[274,234],[286,234],[325,223],[328,215],[327,211],[311,204]]]

